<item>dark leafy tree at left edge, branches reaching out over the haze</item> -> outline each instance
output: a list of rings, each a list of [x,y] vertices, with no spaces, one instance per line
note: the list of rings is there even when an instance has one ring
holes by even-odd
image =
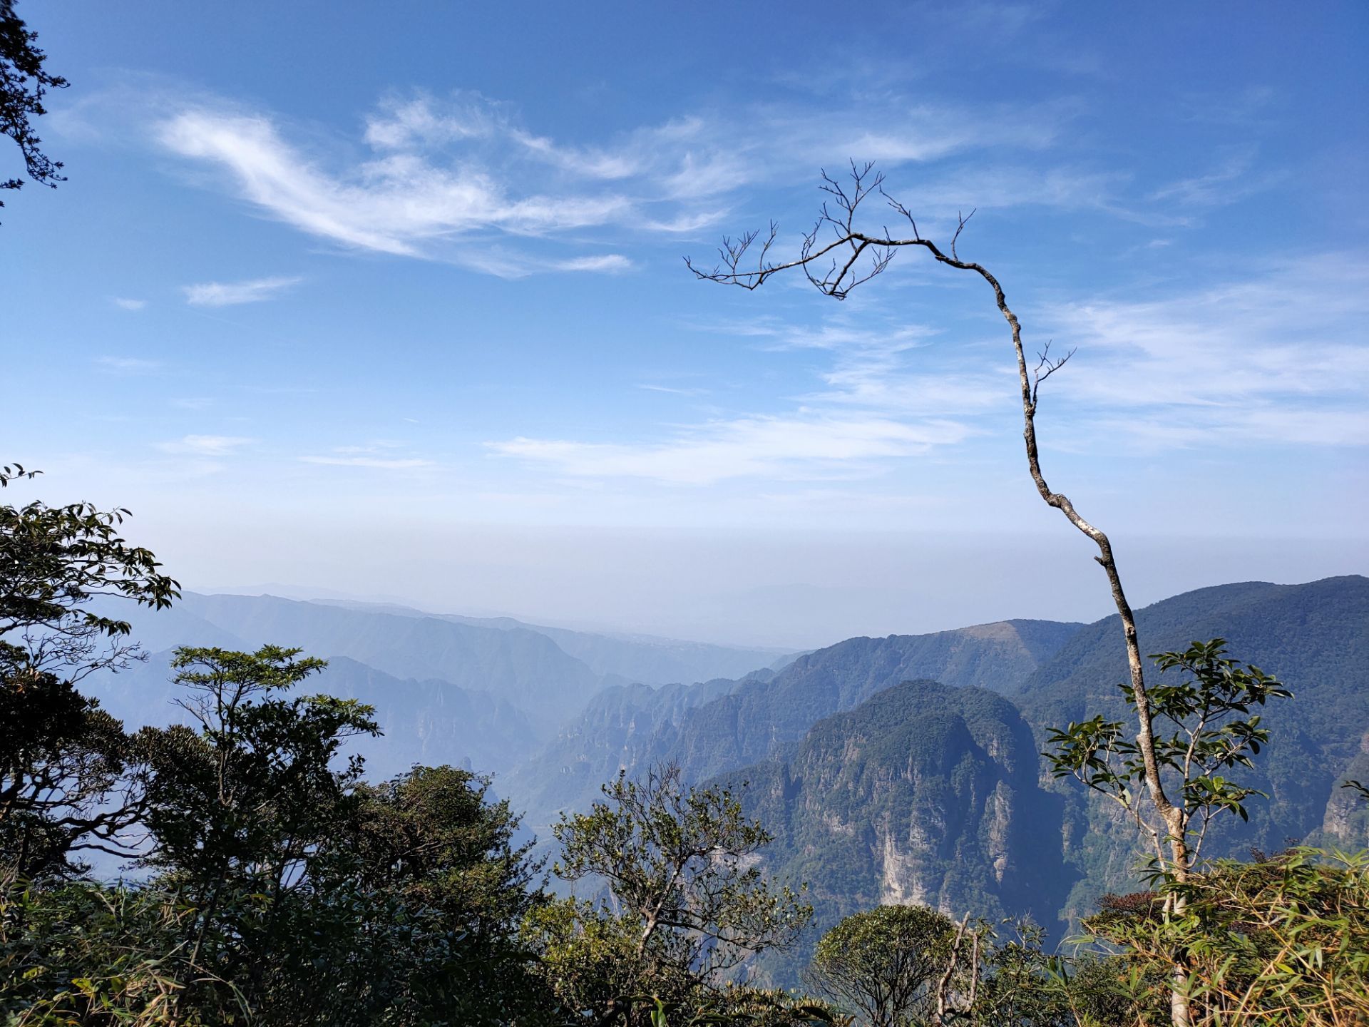
[[[34,475],[7,466],[0,486]],[[140,815],[120,776],[122,724],[77,690],[141,656],[127,622],[93,600],[163,608],[179,596],[153,555],[122,537],[127,514],[0,504],[0,865],[23,876],[79,872],[85,850],[126,854],[122,835]]]

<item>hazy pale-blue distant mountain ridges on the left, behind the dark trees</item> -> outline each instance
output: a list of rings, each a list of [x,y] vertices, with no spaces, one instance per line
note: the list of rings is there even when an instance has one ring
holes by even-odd
[[[164,702],[171,694],[168,650],[175,646],[298,646],[331,664],[309,687],[340,694],[355,690],[359,698],[364,693],[366,701],[387,718],[383,722],[389,734],[375,742],[378,753],[393,755],[405,746],[415,753],[408,761],[378,755],[372,760],[376,772],[382,764],[404,768],[439,755],[439,761],[470,763],[502,774],[554,738],[557,728],[591,697],[628,683],[617,674],[600,672],[563,645],[576,648],[600,667],[612,663],[653,674],[706,670],[719,663],[752,670],[776,660],[771,650],[538,630],[512,619],[490,623],[387,604],[186,592],[170,609],[151,611],[115,600],[100,600],[96,608],[127,619],[133,639],[157,655],[122,675],[90,681],[90,687],[104,692],[111,704],[119,697],[131,700],[134,685],[155,697],[149,704],[127,701],[119,707],[119,715],[131,724],[162,723],[171,715]],[[686,690],[693,681],[698,678],[674,687]],[[435,718],[433,723],[424,713],[427,708]],[[434,739],[441,739],[437,748]]]

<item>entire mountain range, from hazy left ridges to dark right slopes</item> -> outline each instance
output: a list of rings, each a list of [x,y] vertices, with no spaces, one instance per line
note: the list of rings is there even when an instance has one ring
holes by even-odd
[[[383,739],[357,742],[375,775],[415,761],[494,772],[543,841],[619,768],[674,761],[686,781],[747,776],[747,801],[782,835],[772,863],[813,883],[820,916],[916,900],[957,913],[1029,909],[1055,924],[1134,880],[1132,827],[1028,757],[1053,726],[1125,718],[1116,618],[852,638],[779,671],[657,687],[600,674],[561,648],[575,638],[516,622],[196,594],[134,620],[148,649],[281,642],[330,659],[316,690],[375,705],[385,727]],[[1139,611],[1138,626],[1146,652],[1227,638],[1232,656],[1295,694],[1265,711],[1270,745],[1247,775],[1270,798],[1250,802],[1249,824],[1216,830],[1214,854],[1369,841],[1369,816],[1338,787],[1369,779],[1369,579],[1201,589]],[[637,644],[613,645],[630,655]],[[92,690],[130,723],[164,723],[168,676],[163,652]],[[1027,872],[1029,893],[1013,876]]]

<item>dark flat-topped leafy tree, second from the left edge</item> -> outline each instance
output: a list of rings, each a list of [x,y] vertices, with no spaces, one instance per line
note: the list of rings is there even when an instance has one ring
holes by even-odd
[[[327,838],[357,807],[359,757],[334,770],[342,741],[376,734],[371,709],[330,696],[282,697],[326,664],[298,649],[256,653],[177,649],[178,700],[199,726],[138,733],[159,886],[194,906],[186,961],[205,983],[178,1002],[216,1009],[260,1004],[275,959],[301,927]],[[233,993],[216,982],[231,982]]]

